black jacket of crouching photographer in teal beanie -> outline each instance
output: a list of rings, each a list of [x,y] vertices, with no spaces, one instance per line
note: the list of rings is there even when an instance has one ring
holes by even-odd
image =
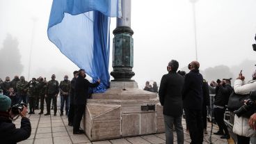
[[[5,112],[0,113],[0,143],[13,144],[19,141],[24,141],[31,135],[31,123],[29,118],[22,118],[21,126],[19,129],[15,127],[13,122],[3,115]]]

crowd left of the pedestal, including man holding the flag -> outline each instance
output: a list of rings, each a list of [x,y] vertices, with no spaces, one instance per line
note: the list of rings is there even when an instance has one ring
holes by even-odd
[[[51,80],[47,81],[42,77],[32,78],[26,81],[23,76],[10,81],[6,77],[5,81],[0,82],[0,139],[3,143],[17,143],[29,138],[31,134],[31,123],[26,118],[27,108],[29,105],[29,114],[35,114],[35,109],[40,109],[44,113],[46,102],[47,113],[51,115],[51,102],[53,104],[54,115],[57,113],[57,97],[61,96],[61,113],[68,117],[68,125],[73,127],[73,134],[84,134],[80,129],[81,118],[85,111],[86,101],[88,99],[88,88],[97,87],[100,83],[90,83],[86,78],[85,70],[73,72],[74,77],[70,81],[67,75],[63,81],[58,83],[55,74],[51,75]],[[40,103],[40,104],[39,104]],[[18,106],[17,106],[18,105]],[[19,106],[24,106],[20,108]],[[19,107],[16,114],[13,108]],[[22,122],[19,129],[15,128],[12,123],[15,116],[21,115]],[[6,130],[9,129],[9,130]]]

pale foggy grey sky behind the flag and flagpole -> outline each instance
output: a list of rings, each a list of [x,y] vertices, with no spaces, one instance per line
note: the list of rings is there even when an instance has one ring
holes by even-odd
[[[31,77],[55,70],[60,74],[56,77],[62,79],[64,73],[71,77],[78,69],[47,38],[51,2],[0,0],[0,47],[7,33],[18,39],[25,76],[28,74],[32,17],[38,21],[33,38]],[[159,83],[171,59],[179,61],[180,67],[195,60],[193,13],[189,0],[138,0],[131,3],[133,70],[136,74],[133,79],[140,87],[147,80]],[[195,4],[198,61],[202,70],[221,64],[232,67],[245,59],[256,60],[256,52],[251,46],[256,33],[255,8],[255,0],[199,0]],[[112,33],[115,18],[111,20]],[[109,71],[112,70],[110,63]]]

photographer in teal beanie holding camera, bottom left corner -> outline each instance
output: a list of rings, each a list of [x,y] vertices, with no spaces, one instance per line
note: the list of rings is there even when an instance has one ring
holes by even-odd
[[[21,127],[17,129],[13,118],[17,116],[10,109],[10,98],[0,94],[0,141],[3,144],[24,141],[31,135],[31,123],[26,118],[26,107],[19,113],[22,117]]]

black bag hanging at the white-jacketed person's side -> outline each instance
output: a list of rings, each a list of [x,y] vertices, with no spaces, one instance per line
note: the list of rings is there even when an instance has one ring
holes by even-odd
[[[227,109],[234,112],[238,110],[241,106],[244,105],[244,100],[250,99],[250,94],[247,95],[239,95],[233,92],[230,95],[230,99],[228,99]]]

